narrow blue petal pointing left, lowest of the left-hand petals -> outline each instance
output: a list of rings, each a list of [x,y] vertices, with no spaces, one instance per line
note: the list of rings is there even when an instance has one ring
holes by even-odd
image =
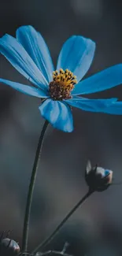
[[[8,84],[10,87],[13,87],[17,91],[23,92],[25,95],[31,95],[31,96],[35,96],[35,97],[39,97],[39,98],[48,98],[49,97],[48,95],[46,95],[45,91],[43,91],[41,89],[37,89],[35,87],[24,85],[22,83],[15,83],[15,82],[12,82],[9,80],[4,80],[4,79],[0,79],[0,83]]]

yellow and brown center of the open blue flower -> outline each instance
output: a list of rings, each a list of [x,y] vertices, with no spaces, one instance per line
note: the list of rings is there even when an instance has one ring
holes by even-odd
[[[53,72],[53,81],[49,84],[50,98],[53,100],[63,100],[72,98],[71,91],[77,83],[76,76],[68,69],[60,69]]]

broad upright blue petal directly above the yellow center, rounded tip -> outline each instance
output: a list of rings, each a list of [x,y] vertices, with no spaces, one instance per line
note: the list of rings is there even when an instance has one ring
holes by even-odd
[[[57,61],[57,69],[69,69],[81,80],[91,66],[95,43],[83,36],[73,35],[62,46]]]

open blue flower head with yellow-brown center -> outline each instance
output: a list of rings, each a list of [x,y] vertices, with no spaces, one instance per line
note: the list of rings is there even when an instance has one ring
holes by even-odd
[[[104,91],[122,83],[122,64],[98,72],[80,81],[91,66],[95,43],[83,36],[73,35],[62,46],[57,60],[57,70],[50,58],[46,43],[34,28],[17,29],[16,39],[4,35],[0,39],[0,51],[33,87],[0,79],[24,94],[43,98],[39,106],[42,116],[64,132],[72,132],[72,109],[76,108],[111,114],[122,114],[122,102],[117,98],[88,99],[86,95]]]

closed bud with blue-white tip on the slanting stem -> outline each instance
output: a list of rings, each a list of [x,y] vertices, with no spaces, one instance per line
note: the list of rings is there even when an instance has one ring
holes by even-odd
[[[112,184],[113,172],[109,169],[103,169],[96,165],[91,167],[91,161],[87,162],[85,180],[91,190],[104,191]]]

